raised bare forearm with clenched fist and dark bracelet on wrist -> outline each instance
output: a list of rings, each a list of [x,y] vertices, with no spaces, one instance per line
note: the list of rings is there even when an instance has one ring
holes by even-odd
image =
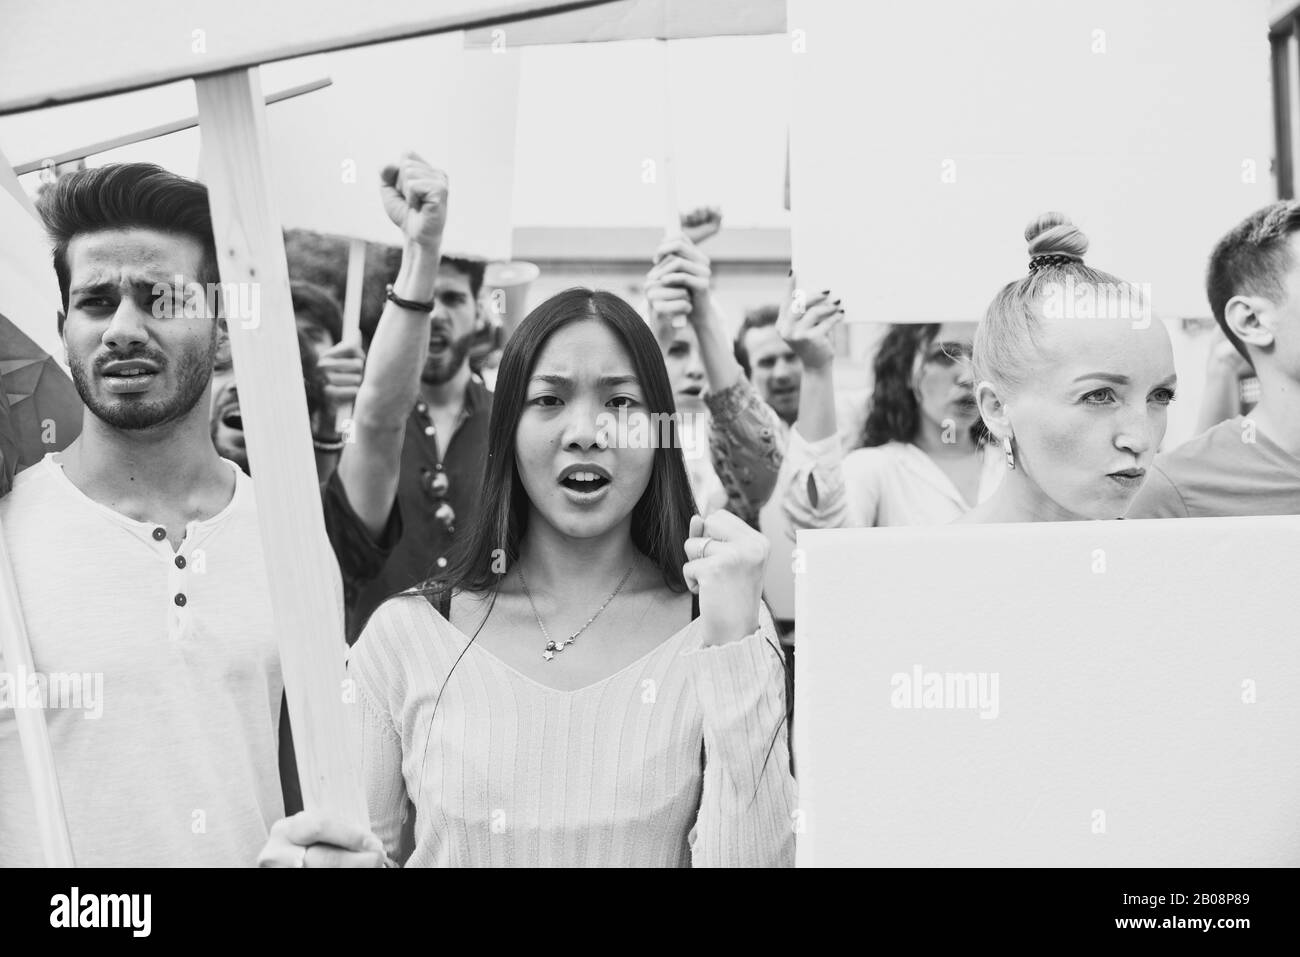
[[[389,218],[406,238],[393,293],[399,299],[429,303],[447,220],[447,177],[407,153],[400,164],[384,170],[381,191]],[[428,345],[429,313],[389,300],[356,394],[352,434],[338,463],[352,510],[376,537],[384,533],[396,499],[402,438],[420,391]]]

